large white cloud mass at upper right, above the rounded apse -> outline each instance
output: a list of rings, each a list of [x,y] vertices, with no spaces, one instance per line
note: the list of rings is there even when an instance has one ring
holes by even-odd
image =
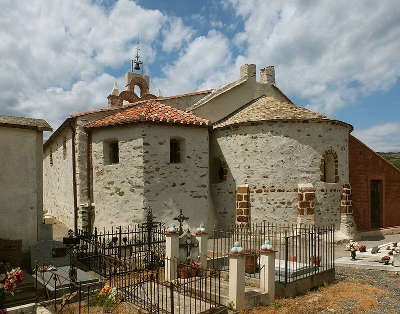
[[[283,90],[332,113],[400,76],[398,1],[228,1],[244,20],[234,43],[276,65]],[[354,87],[354,83],[359,85]]]

